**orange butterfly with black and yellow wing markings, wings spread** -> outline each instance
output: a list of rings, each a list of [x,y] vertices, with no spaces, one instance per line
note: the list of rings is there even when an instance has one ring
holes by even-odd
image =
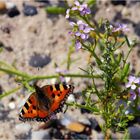
[[[19,120],[48,121],[62,111],[62,107],[74,86],[67,84],[35,86],[35,92],[27,99],[19,113]]]

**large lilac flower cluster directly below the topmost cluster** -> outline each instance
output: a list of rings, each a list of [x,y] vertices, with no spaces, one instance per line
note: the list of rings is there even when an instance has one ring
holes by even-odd
[[[75,37],[76,50],[79,50],[82,47],[81,41],[87,40],[89,38],[89,33],[93,31],[94,28],[89,27],[89,25],[82,20],[77,21],[77,23],[70,22],[70,25],[73,27],[70,34]]]

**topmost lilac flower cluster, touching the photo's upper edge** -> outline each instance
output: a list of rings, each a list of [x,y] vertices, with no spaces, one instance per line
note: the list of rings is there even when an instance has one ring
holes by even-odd
[[[70,17],[70,11],[74,11],[74,12],[79,12],[80,15],[84,16],[84,15],[88,15],[91,13],[90,9],[88,8],[87,4],[80,4],[79,1],[75,1],[74,2],[74,6],[71,9],[67,9],[66,11],[66,18],[68,19]]]

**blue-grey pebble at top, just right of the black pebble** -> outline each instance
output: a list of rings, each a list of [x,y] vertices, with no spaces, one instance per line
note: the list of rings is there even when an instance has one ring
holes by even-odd
[[[27,4],[23,4],[23,13],[25,16],[34,16],[36,15],[38,12],[37,12],[37,9],[35,6],[32,6],[32,5],[27,5]]]

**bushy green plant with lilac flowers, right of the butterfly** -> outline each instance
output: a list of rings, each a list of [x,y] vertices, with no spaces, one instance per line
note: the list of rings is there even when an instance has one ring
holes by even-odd
[[[82,69],[92,77],[92,86],[84,94],[85,105],[72,105],[101,115],[105,121],[102,128],[108,139],[108,129],[125,129],[128,121],[140,116],[140,78],[129,76],[130,63],[127,61],[137,43],[135,40],[129,41],[125,35],[128,28],[124,24],[113,26],[108,20],[93,22],[87,4],[75,1],[75,5],[66,11],[66,18],[72,19],[70,35],[76,50],[88,51],[96,63],[96,66],[89,63],[88,69]],[[124,47],[128,52],[118,51]],[[101,88],[98,88],[98,79],[94,77],[96,69],[98,78],[103,83]],[[96,101],[91,98],[92,94],[98,97]]]

